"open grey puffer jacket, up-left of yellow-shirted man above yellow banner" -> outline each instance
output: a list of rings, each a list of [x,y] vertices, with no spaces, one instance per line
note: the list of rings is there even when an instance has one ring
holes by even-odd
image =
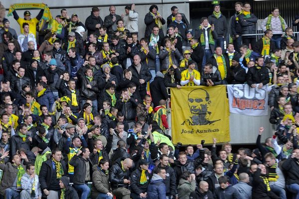
[[[172,65],[179,66],[179,61],[183,59],[182,55],[179,53],[178,49],[175,51],[171,50],[170,53]],[[159,51],[159,57],[161,60],[161,70],[167,70],[169,68],[169,56],[168,51],[165,49]]]

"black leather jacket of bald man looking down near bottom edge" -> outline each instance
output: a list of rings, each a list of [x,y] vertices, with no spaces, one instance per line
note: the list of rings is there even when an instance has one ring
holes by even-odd
[[[112,190],[115,190],[119,187],[129,188],[129,184],[124,184],[124,179],[130,179],[130,171],[122,170],[122,161],[124,158],[118,159],[115,164],[111,167],[109,172],[109,181],[111,183]]]

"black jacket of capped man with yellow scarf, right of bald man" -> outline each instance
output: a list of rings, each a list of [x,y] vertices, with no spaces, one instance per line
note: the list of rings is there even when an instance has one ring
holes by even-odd
[[[140,195],[141,193],[146,193],[148,190],[149,182],[151,179],[151,174],[149,174],[148,171],[146,171],[146,176],[147,176],[147,183],[145,184],[140,184],[140,177],[141,177],[141,168],[139,167],[136,169],[134,172],[131,174],[131,192]]]

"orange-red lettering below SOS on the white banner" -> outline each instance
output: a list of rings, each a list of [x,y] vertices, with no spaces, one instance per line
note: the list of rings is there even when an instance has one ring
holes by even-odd
[[[245,109],[258,109],[265,110],[265,100],[246,100],[233,97],[232,107],[239,108],[240,110]]]

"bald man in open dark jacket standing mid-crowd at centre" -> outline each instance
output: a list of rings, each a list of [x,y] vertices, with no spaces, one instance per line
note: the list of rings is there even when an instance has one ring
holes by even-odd
[[[128,68],[132,72],[132,82],[137,85],[140,97],[143,100],[147,95],[147,83],[151,79],[149,67],[141,63],[139,55],[133,57],[133,64]]]

